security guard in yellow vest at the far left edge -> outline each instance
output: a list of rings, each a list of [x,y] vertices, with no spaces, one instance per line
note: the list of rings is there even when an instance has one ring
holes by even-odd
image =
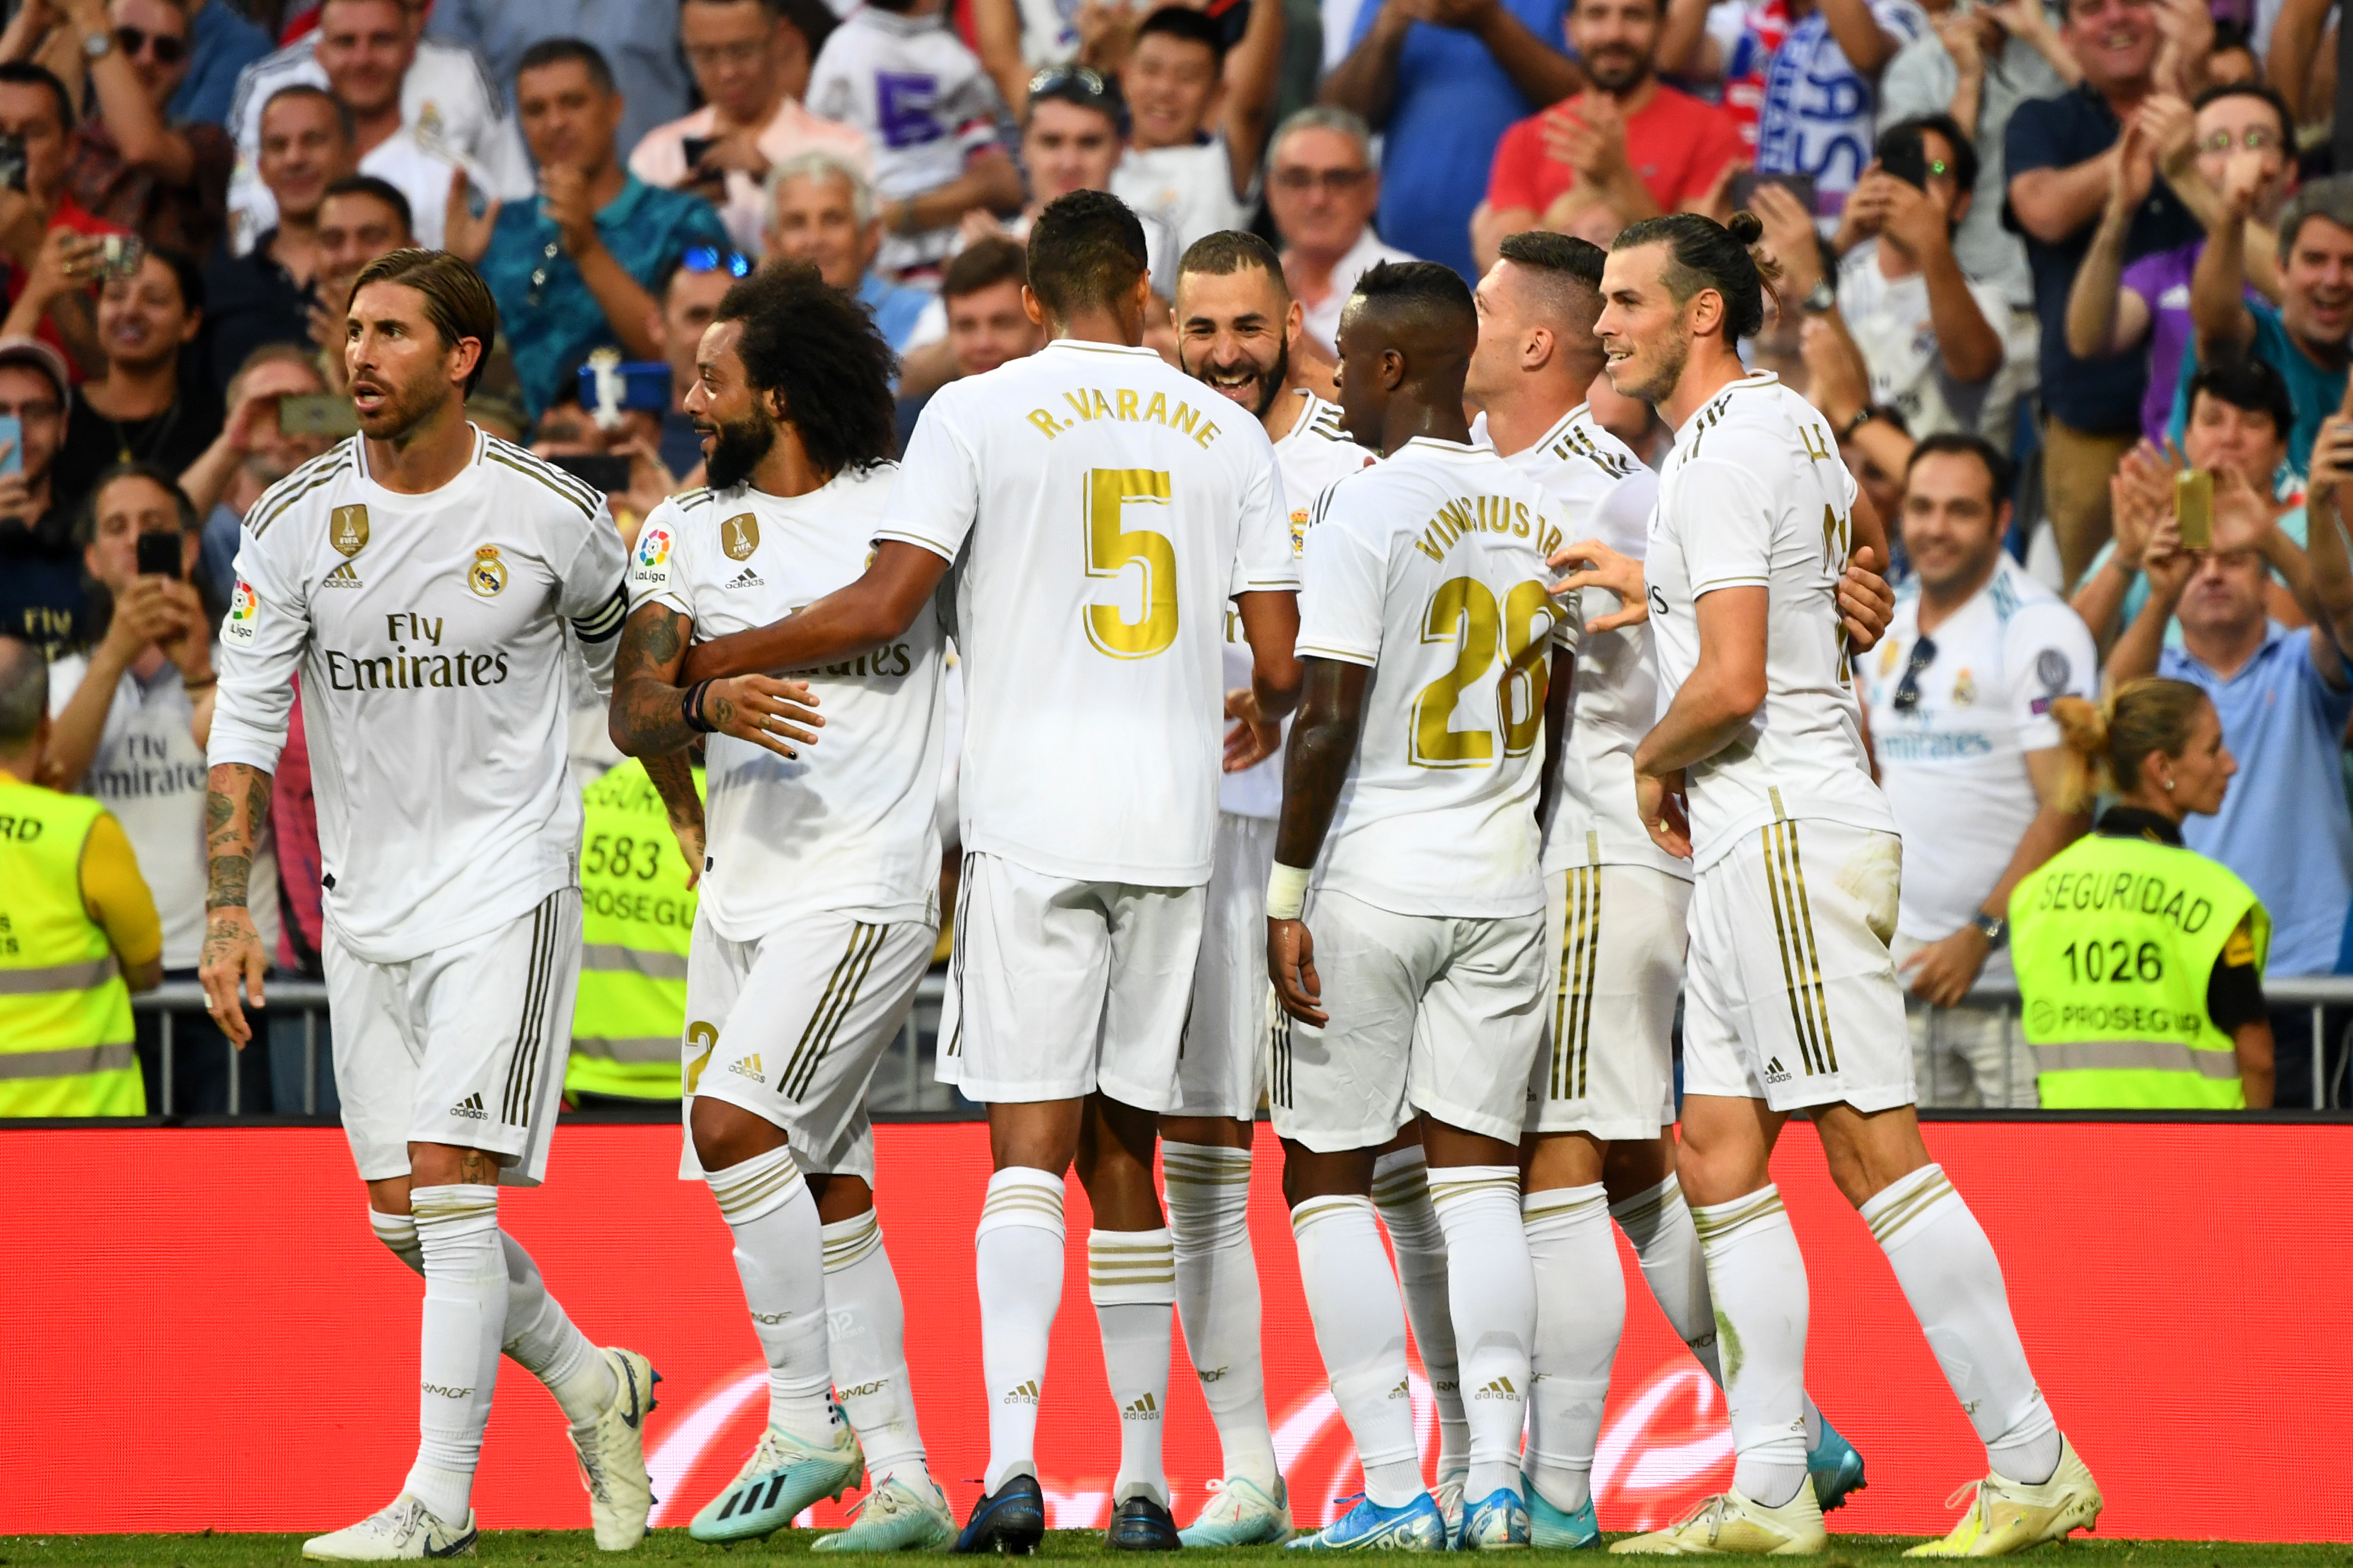
[[[0,1117],[144,1117],[132,992],[162,980],[162,922],[122,823],[33,783],[49,665],[0,637]]]

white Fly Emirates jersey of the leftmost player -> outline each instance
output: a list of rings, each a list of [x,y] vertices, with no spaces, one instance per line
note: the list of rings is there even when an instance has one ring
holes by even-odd
[[[576,642],[609,689],[621,569],[605,498],[482,430],[426,496],[376,484],[351,437],[245,515],[209,764],[275,771],[301,675],[322,903],[353,954],[400,964],[579,886],[567,661]]]

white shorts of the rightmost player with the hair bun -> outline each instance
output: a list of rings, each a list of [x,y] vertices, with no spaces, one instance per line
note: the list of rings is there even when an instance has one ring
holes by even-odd
[[[1692,891],[1682,1091],[1774,1110],[1913,1103],[1887,945],[1904,842],[1821,818],[1746,835]]]

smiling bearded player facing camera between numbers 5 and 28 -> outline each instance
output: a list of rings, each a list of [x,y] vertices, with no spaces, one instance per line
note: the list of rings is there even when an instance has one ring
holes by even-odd
[[[1339,407],[1306,390],[1313,369],[1292,360],[1304,320],[1266,240],[1221,230],[1186,249],[1176,273],[1176,362],[1266,428],[1294,538],[1306,534],[1308,508],[1325,484],[1374,461],[1339,428]],[[1226,1460],[1217,1495],[1179,1530],[1188,1547],[1252,1547],[1292,1535],[1266,1425],[1259,1269],[1249,1246],[1252,1119],[1266,1098],[1266,872],[1275,863],[1285,731],[1257,722],[1249,665],[1242,618],[1228,609],[1224,715],[1235,726],[1217,785],[1217,853],[1176,1058],[1176,1107],[1160,1117],[1176,1321]]]

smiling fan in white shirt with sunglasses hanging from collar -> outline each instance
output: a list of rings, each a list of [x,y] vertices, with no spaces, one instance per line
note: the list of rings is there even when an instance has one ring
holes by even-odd
[[[1880,788],[1904,835],[1889,952],[1906,983],[1922,1105],[2035,1105],[2035,1065],[2002,1009],[2009,889],[2082,837],[2061,811],[2061,696],[2099,684],[2092,632],[2005,550],[2009,463],[1974,435],[1913,449],[1899,512],[1913,581],[1864,670]]]

